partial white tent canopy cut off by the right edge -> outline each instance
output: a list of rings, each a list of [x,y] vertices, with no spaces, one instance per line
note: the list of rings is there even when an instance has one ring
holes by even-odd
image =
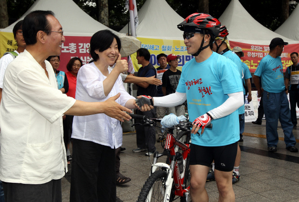
[[[290,17],[282,24],[278,29],[275,30],[275,33],[287,37],[292,40],[299,41],[299,6],[296,6]]]

